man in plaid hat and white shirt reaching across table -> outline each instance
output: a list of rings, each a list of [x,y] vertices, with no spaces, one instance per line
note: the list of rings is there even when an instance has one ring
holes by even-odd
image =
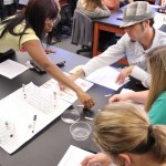
[[[153,28],[154,12],[146,1],[127,4],[123,10],[122,28],[126,32],[116,44],[110,46],[102,54],[91,59],[71,79],[86,76],[95,70],[111,65],[126,55],[129,66],[122,70],[116,82],[123,83],[131,75],[139,80],[144,86],[149,86],[145,53],[155,46],[166,44],[166,33]]]

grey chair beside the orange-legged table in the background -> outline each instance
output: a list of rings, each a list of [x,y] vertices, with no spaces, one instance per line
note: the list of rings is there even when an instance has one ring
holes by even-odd
[[[76,53],[92,51],[92,39],[93,39],[93,21],[91,18],[74,11],[73,25],[72,25],[72,44],[82,45],[81,50]]]

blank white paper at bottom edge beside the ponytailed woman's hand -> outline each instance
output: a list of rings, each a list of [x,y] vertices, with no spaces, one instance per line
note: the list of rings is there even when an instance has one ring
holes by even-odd
[[[58,166],[81,166],[81,162],[85,156],[92,153],[71,145]]]

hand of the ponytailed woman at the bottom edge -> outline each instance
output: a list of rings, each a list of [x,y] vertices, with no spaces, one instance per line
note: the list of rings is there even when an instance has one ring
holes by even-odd
[[[96,155],[90,155],[85,157],[81,163],[82,166],[92,166],[93,164],[101,164],[101,166],[110,166],[111,158],[106,154],[98,153]]]

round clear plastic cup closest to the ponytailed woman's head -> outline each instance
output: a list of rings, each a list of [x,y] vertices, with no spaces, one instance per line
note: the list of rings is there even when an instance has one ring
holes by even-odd
[[[90,124],[80,121],[70,126],[70,132],[75,141],[85,141],[90,136],[92,127]]]

